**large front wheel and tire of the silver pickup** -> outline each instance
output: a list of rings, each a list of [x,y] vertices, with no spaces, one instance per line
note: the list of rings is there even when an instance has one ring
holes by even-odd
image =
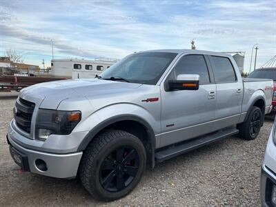
[[[109,130],[92,139],[83,152],[79,175],[92,197],[113,201],[137,186],[145,168],[141,141],[123,130]]]

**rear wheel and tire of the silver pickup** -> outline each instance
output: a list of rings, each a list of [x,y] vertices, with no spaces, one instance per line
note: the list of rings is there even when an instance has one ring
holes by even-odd
[[[263,117],[262,110],[257,106],[253,106],[246,121],[237,126],[239,129],[239,137],[248,140],[256,139],[262,127]]]

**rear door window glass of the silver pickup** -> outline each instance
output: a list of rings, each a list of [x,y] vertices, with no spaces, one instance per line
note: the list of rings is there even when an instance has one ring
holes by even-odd
[[[216,83],[231,83],[237,80],[232,63],[227,57],[211,56]]]

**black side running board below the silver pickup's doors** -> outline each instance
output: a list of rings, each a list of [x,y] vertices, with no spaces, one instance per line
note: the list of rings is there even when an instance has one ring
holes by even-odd
[[[157,162],[165,161],[166,159],[181,155],[190,150],[195,150],[196,148],[200,148],[201,146],[210,144],[219,139],[224,139],[226,137],[237,135],[237,133],[239,133],[239,130],[237,130],[237,128],[225,128],[223,130],[210,133],[208,135],[190,139],[189,141],[186,141],[182,144],[168,146],[155,152],[155,160]]]

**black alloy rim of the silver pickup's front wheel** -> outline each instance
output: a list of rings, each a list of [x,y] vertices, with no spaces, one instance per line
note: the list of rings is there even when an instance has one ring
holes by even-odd
[[[99,179],[109,192],[124,190],[135,178],[139,169],[139,155],[131,146],[119,146],[103,160]]]

